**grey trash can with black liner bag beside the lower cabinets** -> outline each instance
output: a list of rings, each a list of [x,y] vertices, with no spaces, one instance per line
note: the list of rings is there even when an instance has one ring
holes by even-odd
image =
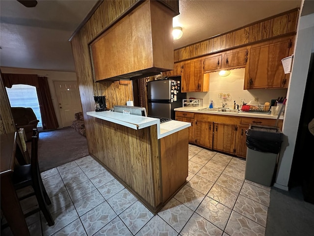
[[[250,125],[246,132],[245,178],[271,186],[283,134],[278,127]]]

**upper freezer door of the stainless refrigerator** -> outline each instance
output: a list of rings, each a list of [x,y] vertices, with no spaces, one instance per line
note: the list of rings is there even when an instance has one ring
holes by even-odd
[[[147,83],[148,100],[171,100],[171,81],[155,80]]]

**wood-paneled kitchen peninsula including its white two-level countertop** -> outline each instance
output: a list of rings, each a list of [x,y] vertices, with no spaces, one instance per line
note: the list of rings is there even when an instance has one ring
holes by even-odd
[[[87,112],[97,132],[91,153],[157,213],[188,176],[188,122],[117,112]]]

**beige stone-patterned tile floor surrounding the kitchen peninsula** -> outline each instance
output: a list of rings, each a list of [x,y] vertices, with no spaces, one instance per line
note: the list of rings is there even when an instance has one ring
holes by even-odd
[[[270,187],[244,179],[245,160],[189,145],[183,188],[154,216],[91,156],[42,173],[51,227],[38,212],[32,236],[263,236]],[[22,202],[25,211],[36,199]],[[12,235],[9,228],[1,236]]]

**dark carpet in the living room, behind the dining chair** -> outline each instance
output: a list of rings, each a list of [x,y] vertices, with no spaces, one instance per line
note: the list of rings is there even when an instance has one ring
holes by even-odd
[[[31,142],[27,142],[30,152]],[[72,127],[40,132],[38,162],[40,172],[88,155],[87,140]]]

